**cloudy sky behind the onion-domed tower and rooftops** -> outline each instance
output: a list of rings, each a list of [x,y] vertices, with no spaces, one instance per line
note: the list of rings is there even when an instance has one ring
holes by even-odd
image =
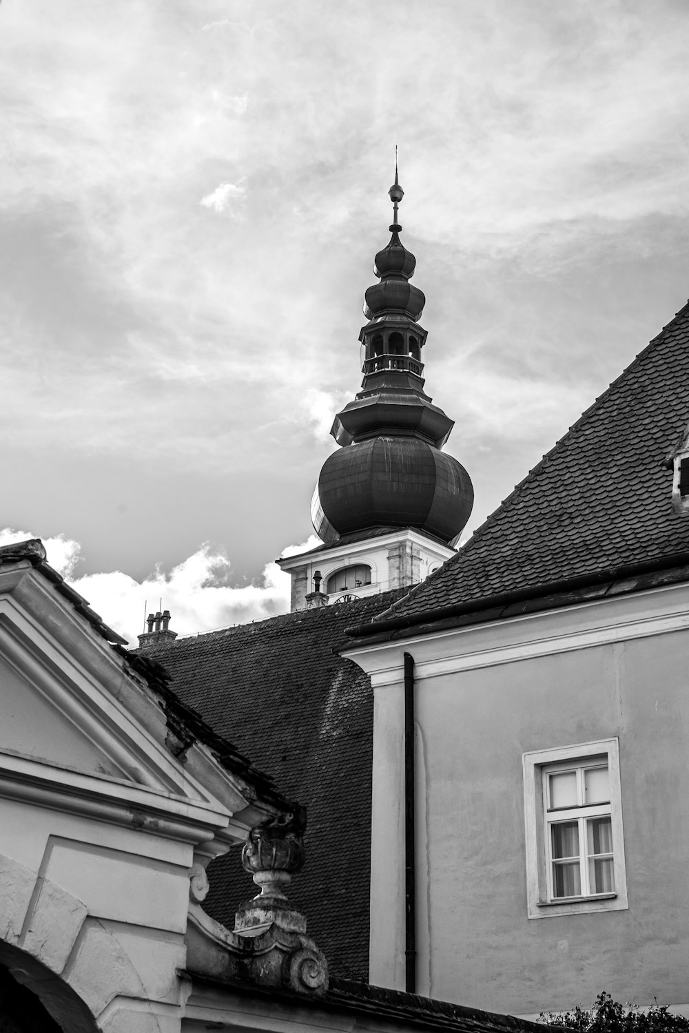
[[[466,539],[687,301],[688,52],[684,0],[2,0],[0,543],[130,640],[288,609],[396,140]]]

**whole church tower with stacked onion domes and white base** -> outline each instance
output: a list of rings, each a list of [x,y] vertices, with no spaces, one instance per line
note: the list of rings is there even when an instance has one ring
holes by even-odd
[[[424,390],[426,298],[409,282],[416,259],[400,240],[397,164],[389,196],[393,236],[375,258],[379,283],[365,294],[362,389],[335,417],[341,447],[325,460],[311,506],[323,543],[278,560],[292,577],[292,609],[424,581],[452,555],[473,504],[469,474],[441,451],[452,420]]]

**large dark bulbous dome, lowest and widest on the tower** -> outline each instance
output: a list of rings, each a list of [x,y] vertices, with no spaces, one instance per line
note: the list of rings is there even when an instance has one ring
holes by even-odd
[[[372,527],[413,527],[450,541],[474,497],[469,474],[451,456],[418,438],[393,436],[334,452],[316,492],[316,530],[325,541]]]

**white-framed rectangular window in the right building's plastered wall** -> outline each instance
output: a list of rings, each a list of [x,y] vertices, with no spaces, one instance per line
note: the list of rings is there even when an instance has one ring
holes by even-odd
[[[627,907],[617,739],[524,754],[530,918]]]

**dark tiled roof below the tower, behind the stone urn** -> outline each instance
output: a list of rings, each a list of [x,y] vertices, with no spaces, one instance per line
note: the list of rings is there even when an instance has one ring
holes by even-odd
[[[306,866],[288,889],[336,975],[366,979],[369,952],[373,693],[333,653],[351,623],[404,590],[147,648],[178,695],[231,738],[308,812]],[[230,851],[209,869],[205,909],[233,925],[257,889]]]

